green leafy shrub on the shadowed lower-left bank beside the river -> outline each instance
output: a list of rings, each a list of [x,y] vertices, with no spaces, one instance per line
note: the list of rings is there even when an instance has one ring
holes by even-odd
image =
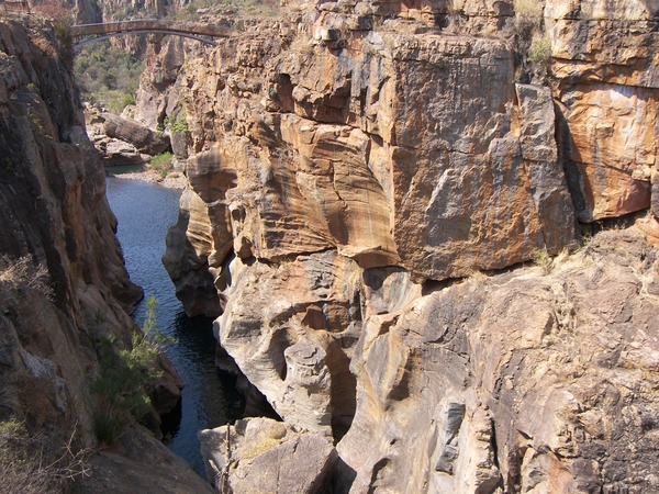
[[[116,351],[116,338],[103,338],[99,372],[91,392],[96,397],[94,431],[100,442],[112,445],[135,419],[148,412],[145,388],[160,378],[154,370],[159,345],[168,343],[156,327],[156,300],[146,302],[142,332],[133,333],[132,349]]]

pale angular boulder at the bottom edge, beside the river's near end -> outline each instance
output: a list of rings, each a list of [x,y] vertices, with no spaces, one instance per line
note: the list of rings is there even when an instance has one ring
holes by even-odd
[[[202,430],[199,438],[206,476],[215,479],[220,492],[330,492],[336,450],[316,435],[294,433],[272,419],[252,418],[237,420],[233,427]],[[222,472],[226,472],[225,479]]]

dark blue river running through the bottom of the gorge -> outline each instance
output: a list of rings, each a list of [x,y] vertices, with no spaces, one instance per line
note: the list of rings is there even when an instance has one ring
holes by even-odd
[[[131,280],[144,289],[145,300],[158,301],[159,329],[176,339],[166,350],[183,380],[180,414],[165,417],[167,446],[204,475],[197,431],[233,422],[242,413],[242,396],[235,378],[215,367],[212,319],[190,318],[175,295],[175,288],[160,262],[165,235],[178,216],[181,191],[158,184],[108,177],[108,201],[119,221],[121,243]],[[133,314],[144,319],[145,303]]]

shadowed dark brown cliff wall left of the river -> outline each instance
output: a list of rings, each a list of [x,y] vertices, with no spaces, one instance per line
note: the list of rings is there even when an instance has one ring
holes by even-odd
[[[142,299],[85,133],[71,56],[37,15],[0,21],[0,420],[45,434],[64,456],[98,446],[89,392],[97,351],[104,338],[130,348],[136,326],[129,314]],[[159,366],[155,428],[182,386],[164,357]],[[4,436],[0,446],[4,452]],[[49,461],[36,458],[44,468]],[[57,464],[47,473],[55,483],[67,479]],[[11,491],[11,475],[2,475]]]

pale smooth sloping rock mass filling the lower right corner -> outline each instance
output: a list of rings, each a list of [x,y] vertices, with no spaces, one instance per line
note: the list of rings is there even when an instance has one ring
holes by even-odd
[[[350,492],[654,492],[659,271],[640,238],[368,318],[337,446]]]

